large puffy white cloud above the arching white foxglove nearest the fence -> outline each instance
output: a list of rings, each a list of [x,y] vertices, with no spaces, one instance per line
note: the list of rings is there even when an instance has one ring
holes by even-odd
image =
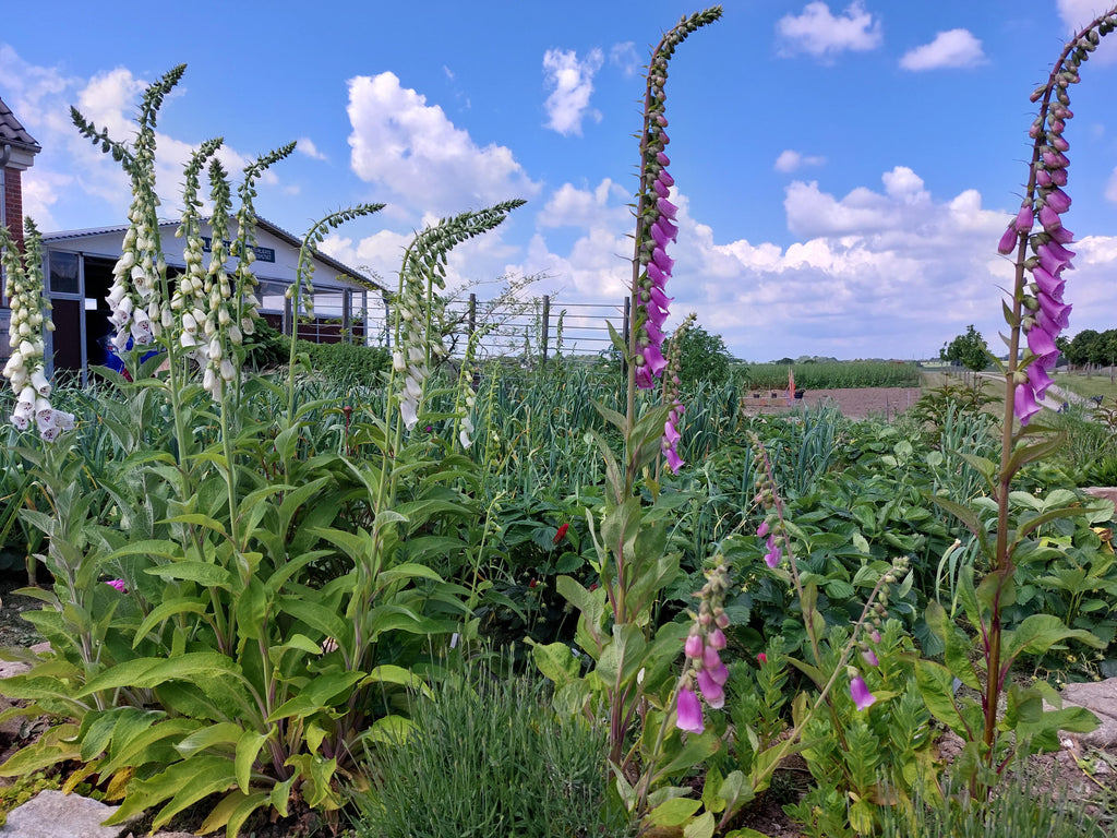
[[[393,73],[350,79],[351,164],[404,206],[450,215],[538,191],[504,145],[480,146]]]

